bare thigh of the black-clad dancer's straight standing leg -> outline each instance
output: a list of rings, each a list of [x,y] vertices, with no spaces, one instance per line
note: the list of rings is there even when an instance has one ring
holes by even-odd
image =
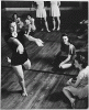
[[[14,72],[15,72],[16,76],[19,77],[19,79],[24,78],[22,65],[12,66],[12,68],[14,69]]]

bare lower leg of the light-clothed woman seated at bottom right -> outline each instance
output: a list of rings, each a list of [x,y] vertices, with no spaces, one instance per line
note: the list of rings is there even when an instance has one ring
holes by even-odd
[[[75,108],[75,98],[71,97],[70,92],[66,89],[67,87],[63,88],[63,92],[65,94],[65,96],[69,99],[71,107]]]

